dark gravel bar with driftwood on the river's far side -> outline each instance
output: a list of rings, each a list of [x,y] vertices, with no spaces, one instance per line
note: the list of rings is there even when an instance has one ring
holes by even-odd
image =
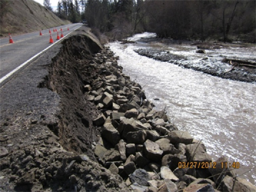
[[[144,40],[143,40],[144,41]],[[153,40],[152,40],[153,41]],[[160,40],[159,40],[160,41]],[[148,42],[148,41],[146,41]],[[207,55],[208,50],[218,50],[228,47],[228,45],[221,44],[193,44],[197,45],[197,50],[195,54],[202,54],[202,60],[198,63],[189,62],[186,56],[172,54],[169,51],[159,50],[157,48],[149,49],[137,49],[135,52],[141,56],[147,56],[148,58],[153,58],[154,60],[165,61],[179,65],[184,68],[191,68],[211,76],[217,76],[224,79],[232,79],[236,81],[244,81],[248,83],[256,82],[256,61],[244,61],[237,58],[223,58],[221,61],[209,61],[212,60],[212,56]],[[172,44],[170,44],[172,46]],[[229,45],[237,46],[237,45]],[[241,45],[242,46],[242,45]],[[244,46],[244,45],[243,45]],[[212,62],[212,63],[211,63]],[[218,62],[222,62],[222,65],[217,65]],[[209,64],[211,63],[211,64]],[[227,65],[229,63],[230,65]]]

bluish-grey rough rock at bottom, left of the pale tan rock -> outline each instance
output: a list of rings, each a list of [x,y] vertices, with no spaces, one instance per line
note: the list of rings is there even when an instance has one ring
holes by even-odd
[[[131,175],[129,175],[129,178],[132,183],[137,182],[141,186],[148,186],[148,180],[150,180],[148,172],[143,169],[136,170]]]

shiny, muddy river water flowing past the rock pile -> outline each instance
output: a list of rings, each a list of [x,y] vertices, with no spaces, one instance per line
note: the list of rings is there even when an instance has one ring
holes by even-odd
[[[154,102],[156,109],[166,108],[179,129],[202,140],[213,160],[226,156],[229,161],[239,162],[241,167],[236,173],[246,172],[240,177],[256,185],[256,84],[221,79],[140,56],[135,49],[156,47],[140,42],[145,36],[154,34],[143,33],[130,38],[137,40],[137,44],[108,44],[120,57],[118,64],[124,68],[124,73],[143,86],[147,99]],[[175,51],[175,47],[164,49],[168,48]],[[236,49],[236,52],[239,51]],[[250,57],[253,57],[252,52]]]

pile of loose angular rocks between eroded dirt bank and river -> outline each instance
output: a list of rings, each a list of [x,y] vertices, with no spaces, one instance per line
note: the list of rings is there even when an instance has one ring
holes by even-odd
[[[90,65],[100,69],[84,85],[85,96],[102,112],[93,120],[101,127],[93,145],[100,164],[138,191],[231,191],[235,175],[221,166],[227,159],[208,168],[212,158],[204,144],[179,131],[164,110],[153,109],[140,84],[122,74],[113,52],[96,54]],[[208,166],[198,168],[194,162]],[[241,180],[235,188],[250,190]]]

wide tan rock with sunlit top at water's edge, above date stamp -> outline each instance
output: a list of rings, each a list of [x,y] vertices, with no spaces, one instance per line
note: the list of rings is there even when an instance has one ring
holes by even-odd
[[[172,131],[168,134],[168,138],[173,145],[177,143],[188,145],[193,141],[192,136],[187,131]]]

